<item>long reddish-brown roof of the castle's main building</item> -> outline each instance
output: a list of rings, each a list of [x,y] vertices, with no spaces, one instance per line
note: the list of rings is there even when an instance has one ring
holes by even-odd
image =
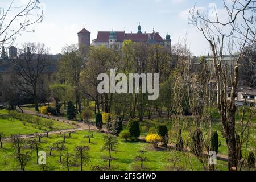
[[[124,31],[122,32],[115,32],[117,35],[118,42],[123,42],[124,40],[132,40],[133,42],[147,42],[148,37],[153,37],[153,34],[126,34]],[[100,31],[98,32],[97,39],[95,42],[109,42],[109,31]],[[163,38],[157,33],[155,33],[155,41],[156,42],[163,42]]]

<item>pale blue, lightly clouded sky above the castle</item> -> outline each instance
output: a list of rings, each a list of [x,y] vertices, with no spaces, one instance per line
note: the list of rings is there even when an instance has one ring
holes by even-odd
[[[14,0],[14,5],[28,0]],[[231,1],[231,0],[226,0]],[[7,7],[11,0],[0,0],[0,7]],[[51,53],[61,53],[66,44],[77,43],[77,32],[83,27],[91,32],[91,42],[98,31],[137,32],[141,22],[143,32],[156,32],[165,38],[171,35],[172,44],[182,42],[187,33],[188,46],[193,55],[207,53],[209,45],[195,26],[188,23],[189,9],[216,7],[223,9],[222,0],[40,0],[44,9],[43,22],[30,27],[35,32],[16,36],[14,46],[24,42],[41,42]]]

